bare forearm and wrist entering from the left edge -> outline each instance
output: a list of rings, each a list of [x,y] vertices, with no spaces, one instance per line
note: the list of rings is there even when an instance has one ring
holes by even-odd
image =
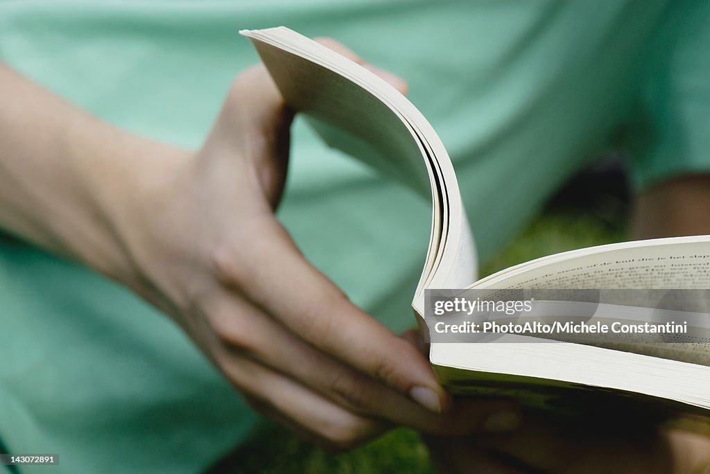
[[[193,154],[122,131],[1,64],[0,91],[0,228],[145,294],[141,231]]]

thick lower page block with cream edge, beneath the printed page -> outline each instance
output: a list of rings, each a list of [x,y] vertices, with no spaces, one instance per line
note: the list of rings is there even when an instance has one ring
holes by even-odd
[[[439,343],[432,351],[440,380],[461,395],[510,396],[554,408],[576,400],[576,390],[599,401],[597,395],[611,389],[656,397],[655,404],[666,399],[701,407],[706,416],[710,409],[705,365],[568,343]]]

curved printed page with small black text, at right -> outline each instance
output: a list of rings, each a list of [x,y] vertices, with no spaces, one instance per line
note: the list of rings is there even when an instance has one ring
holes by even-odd
[[[573,250],[503,270],[471,287],[501,290],[703,290],[710,288],[710,236],[664,238]],[[633,311],[643,309],[622,308],[626,318],[630,318],[629,314]],[[706,307],[689,310],[707,312]],[[650,316],[651,312],[646,314]],[[635,319],[640,317],[635,316]],[[599,311],[590,321],[596,321],[595,318],[605,321]],[[697,334],[706,334],[706,331]],[[574,340],[568,341],[585,343],[583,337],[574,337]],[[650,336],[643,334],[628,334],[624,335],[623,341],[594,345],[710,365],[710,339],[706,336],[687,336],[676,343],[653,341]]]

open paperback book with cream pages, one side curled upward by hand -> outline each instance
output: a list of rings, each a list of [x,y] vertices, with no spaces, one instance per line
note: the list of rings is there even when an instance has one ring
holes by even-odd
[[[584,248],[476,281],[474,241],[454,167],[415,106],[364,67],[288,28],[241,34],[255,45],[288,106],[304,114],[329,145],[431,195],[429,249],[412,303],[422,328],[428,289],[710,288],[710,236]],[[701,326],[708,323],[707,314],[693,315]],[[681,343],[630,340],[616,346],[540,343],[540,336],[506,335],[495,343],[432,338],[430,361],[454,393],[512,395],[555,409],[580,393],[587,399],[631,397],[707,415],[710,342],[702,335],[688,337]]]

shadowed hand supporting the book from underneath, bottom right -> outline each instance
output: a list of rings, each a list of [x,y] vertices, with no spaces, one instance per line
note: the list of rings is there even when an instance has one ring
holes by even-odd
[[[584,420],[528,410],[513,434],[428,437],[427,444],[447,474],[700,474],[710,468],[710,439],[616,414]]]

